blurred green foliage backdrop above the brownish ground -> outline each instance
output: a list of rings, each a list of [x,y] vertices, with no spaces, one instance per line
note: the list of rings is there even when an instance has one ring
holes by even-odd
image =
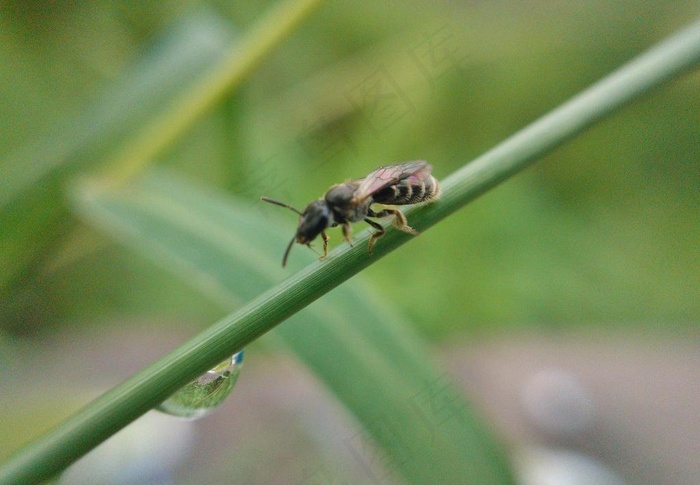
[[[270,5],[0,4],[4,369],[45,335],[191,334],[223,315],[79,221],[65,194],[113,173],[124,140]],[[678,1],[329,3],[154,163],[296,207],[398,161],[429,160],[439,179],[697,13]],[[695,72],[633,103],[364,281],[436,343],[584,327],[697,338],[699,93]],[[285,221],[291,237],[295,217],[273,216],[261,210],[261,224]]]

